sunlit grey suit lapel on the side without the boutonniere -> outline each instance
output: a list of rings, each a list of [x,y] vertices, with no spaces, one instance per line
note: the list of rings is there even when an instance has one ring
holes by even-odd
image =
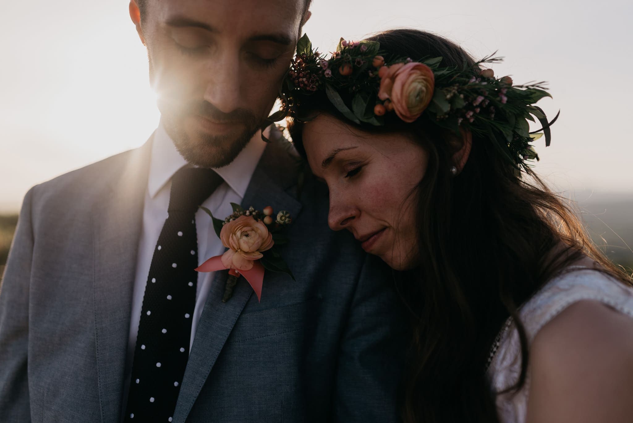
[[[151,138],[129,152],[110,191],[100,193],[94,219],[94,318],[97,377],[103,423],[120,419]],[[106,175],[104,175],[106,176]]]

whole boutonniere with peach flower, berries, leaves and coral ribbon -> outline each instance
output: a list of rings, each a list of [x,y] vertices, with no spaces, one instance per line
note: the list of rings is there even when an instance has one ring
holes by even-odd
[[[206,207],[203,209],[213,221],[213,229],[227,247],[222,256],[211,257],[201,264],[196,271],[209,272],[229,269],[229,278],[224,287],[223,303],[229,301],[237,279],[243,276],[253,287],[257,300],[261,300],[264,271],[280,271],[294,276],[277,251],[279,245],[288,242],[283,235],[285,226],[292,218],[287,211],[280,211],[273,218],[273,208],[264,207],[262,211],[231,203],[233,214],[224,220],[216,219]]]

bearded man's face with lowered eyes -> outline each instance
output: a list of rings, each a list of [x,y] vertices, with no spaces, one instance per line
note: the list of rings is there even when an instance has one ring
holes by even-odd
[[[141,16],[167,133],[192,164],[226,166],[268,116],[301,0],[150,0]]]

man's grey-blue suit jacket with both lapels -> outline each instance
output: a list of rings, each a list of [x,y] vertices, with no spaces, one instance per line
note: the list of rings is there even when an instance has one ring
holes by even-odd
[[[405,349],[392,275],[327,227],[327,190],[297,198],[296,157],[273,141],[242,205],[294,217],[261,303],[226,271],[199,320],[173,422],[394,422]],[[151,140],[34,186],[0,290],[0,421],[120,420]],[[215,236],[215,234],[210,234]]]

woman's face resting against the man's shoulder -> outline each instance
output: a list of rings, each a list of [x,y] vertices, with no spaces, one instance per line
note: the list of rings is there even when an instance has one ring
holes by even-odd
[[[328,223],[396,270],[418,264],[416,187],[428,155],[404,133],[365,133],[327,114],[304,124],[314,174],[330,190]]]

